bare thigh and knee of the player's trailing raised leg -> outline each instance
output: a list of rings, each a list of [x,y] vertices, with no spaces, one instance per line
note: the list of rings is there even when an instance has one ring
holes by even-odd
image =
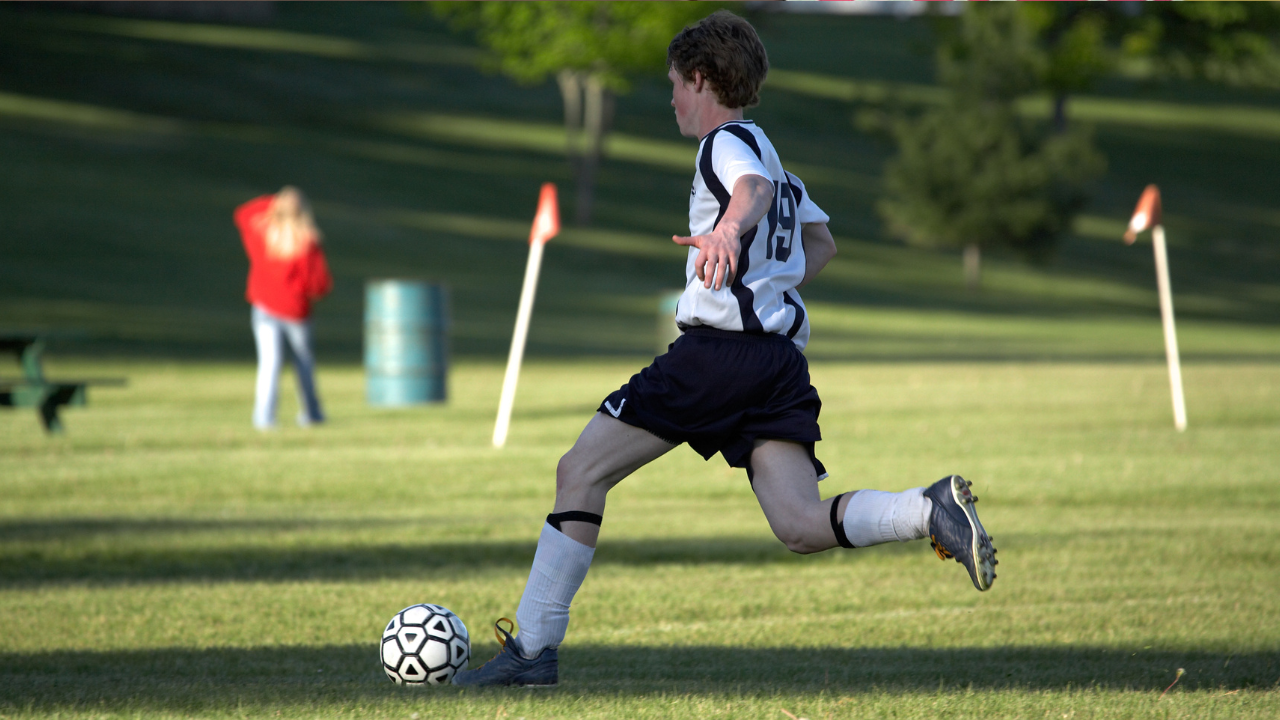
[[[822,510],[822,495],[813,460],[803,445],[756,441],[751,451],[751,489],[776,534],[781,537],[785,532],[812,525],[814,514]]]

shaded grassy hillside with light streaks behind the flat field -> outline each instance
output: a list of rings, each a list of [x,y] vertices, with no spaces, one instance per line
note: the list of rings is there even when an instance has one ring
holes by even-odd
[[[968,293],[955,255],[882,237],[890,149],[852,124],[850,87],[929,88],[927,26],[755,20],[781,72],[750,115],[841,249],[806,288],[812,356],[1160,357],[1151,252],[1117,240],[1148,182],[1187,355],[1280,356],[1280,95],[1112,81],[1078,100],[1110,158],[1078,232],[1046,266],[989,259]],[[364,282],[388,275],[447,283],[454,354],[500,356],[539,183],[566,217],[573,193],[553,85],[479,56],[403,5],[279,4],[262,27],[0,6],[0,327],[77,332],[55,347],[72,354],[251,357],[230,211],[296,183],[337,275],[321,360],[358,357]],[[657,68],[620,100],[595,222],[549,246],[530,352],[652,352],[695,151],[668,99]]]

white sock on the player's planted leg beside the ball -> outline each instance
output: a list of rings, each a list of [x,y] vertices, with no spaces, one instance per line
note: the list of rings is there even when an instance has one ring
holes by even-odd
[[[526,659],[558,647],[568,629],[568,606],[586,579],[595,548],[585,546],[549,524],[538,537],[538,552],[529,570],[525,594],[516,609],[520,648]]]

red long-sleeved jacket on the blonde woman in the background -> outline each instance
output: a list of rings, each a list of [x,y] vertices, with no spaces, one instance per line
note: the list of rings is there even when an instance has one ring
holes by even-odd
[[[306,252],[289,260],[266,255],[264,215],[274,199],[274,195],[264,195],[236,209],[236,227],[248,254],[244,299],[273,315],[305,320],[311,315],[311,302],[333,290],[333,277],[319,245],[311,245]]]

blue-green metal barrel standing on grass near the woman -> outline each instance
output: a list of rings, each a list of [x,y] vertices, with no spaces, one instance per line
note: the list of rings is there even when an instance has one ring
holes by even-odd
[[[443,402],[448,384],[448,293],[420,281],[365,286],[365,378],[369,404]]]

